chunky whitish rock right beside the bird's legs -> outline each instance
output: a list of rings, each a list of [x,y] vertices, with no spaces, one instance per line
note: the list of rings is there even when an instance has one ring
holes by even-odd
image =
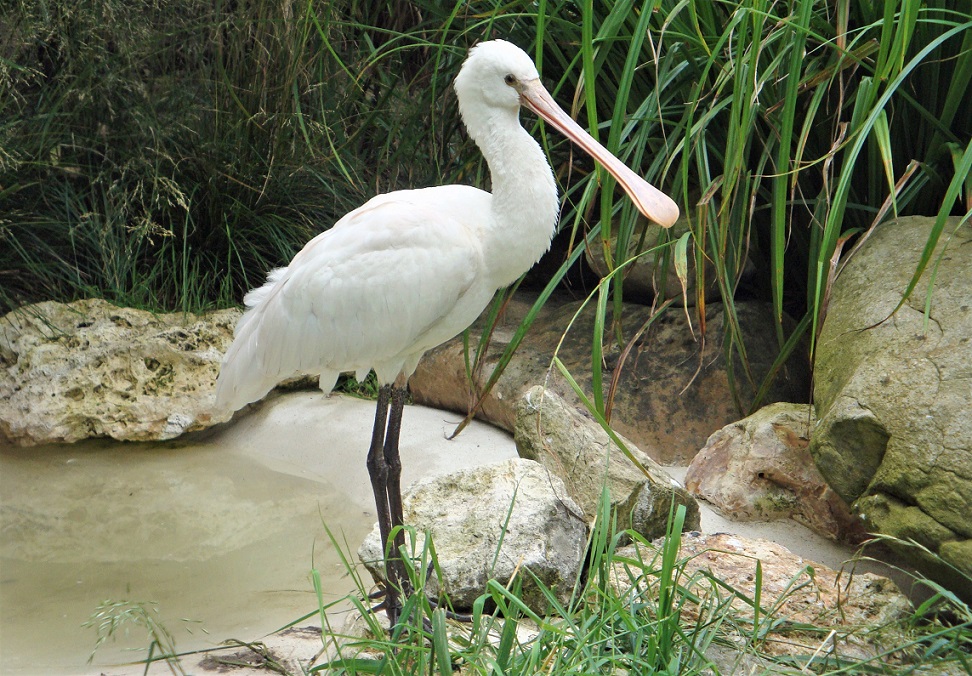
[[[563,482],[538,463],[512,458],[419,481],[403,503],[405,523],[416,531],[415,551],[422,551],[424,533],[430,533],[441,591],[457,609],[471,608],[489,580],[505,585],[521,569],[530,571],[521,575],[522,598],[537,612],[545,612],[547,602],[533,576],[561,601],[570,598],[587,524]],[[385,579],[377,525],[358,558],[376,581]],[[438,580],[430,579],[427,589],[439,593]]]

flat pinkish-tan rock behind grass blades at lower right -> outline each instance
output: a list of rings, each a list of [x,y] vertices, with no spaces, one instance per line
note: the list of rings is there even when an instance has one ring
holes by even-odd
[[[612,583],[619,593],[657,594],[653,571],[658,569],[663,546],[664,540],[656,540],[652,547],[630,545],[617,551]],[[639,563],[624,562],[625,558]],[[774,542],[726,533],[683,534],[678,561],[683,566],[679,585],[688,592],[681,609],[683,626],[700,613],[727,604],[733,622],[751,626],[753,609],[744,599],[757,598],[759,584],[758,622],[767,631],[760,644],[762,653],[862,660],[904,640],[886,625],[907,615],[911,604],[891,580],[873,573],[841,574]],[[713,578],[727,586],[713,584]],[[646,579],[652,581],[647,587]],[[729,589],[737,594],[731,601]],[[698,601],[688,600],[689,593]]]

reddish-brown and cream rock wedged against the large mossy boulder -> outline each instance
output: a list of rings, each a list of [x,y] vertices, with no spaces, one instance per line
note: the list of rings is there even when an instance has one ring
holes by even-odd
[[[816,423],[809,404],[776,403],[709,437],[685,474],[685,487],[739,521],[792,518],[832,540],[857,544],[866,533],[824,481],[808,449]]]

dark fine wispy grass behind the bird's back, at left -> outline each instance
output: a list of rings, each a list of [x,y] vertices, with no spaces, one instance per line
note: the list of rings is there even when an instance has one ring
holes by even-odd
[[[350,27],[387,8],[0,11],[0,310],[232,304],[367,196],[431,180],[401,130],[426,117],[406,105],[418,55],[366,72],[377,47]]]

